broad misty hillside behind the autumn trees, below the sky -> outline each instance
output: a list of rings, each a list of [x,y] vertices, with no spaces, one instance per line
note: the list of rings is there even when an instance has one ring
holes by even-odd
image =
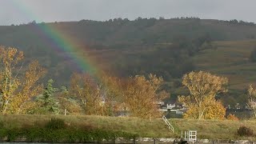
[[[58,87],[69,86],[70,75],[79,66],[43,27],[58,31],[94,67],[118,77],[154,73],[166,80],[166,90],[175,99],[186,94],[181,78],[192,70],[206,70],[230,79],[230,91],[220,95],[225,103],[245,103],[250,83],[255,83],[255,63],[250,53],[256,46],[256,25],[251,22],[199,18],[115,18],[106,22],[30,22],[0,26],[0,45],[23,50],[24,65],[32,59],[44,66],[44,79],[54,78]],[[82,51],[82,52],[81,52]]]

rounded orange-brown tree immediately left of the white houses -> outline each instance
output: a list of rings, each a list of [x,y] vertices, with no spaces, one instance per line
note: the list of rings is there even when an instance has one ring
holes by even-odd
[[[159,111],[157,102],[167,97],[167,93],[161,90],[163,79],[154,74],[149,78],[144,76],[130,77],[124,86],[124,102],[131,116],[138,118],[158,118],[162,112]]]

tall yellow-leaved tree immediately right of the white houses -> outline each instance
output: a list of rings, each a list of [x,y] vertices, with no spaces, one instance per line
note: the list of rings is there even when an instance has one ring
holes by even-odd
[[[190,95],[179,96],[178,102],[188,107],[185,118],[222,119],[226,109],[216,102],[216,94],[226,92],[227,78],[218,77],[208,72],[190,72],[182,78],[182,84],[190,90]]]

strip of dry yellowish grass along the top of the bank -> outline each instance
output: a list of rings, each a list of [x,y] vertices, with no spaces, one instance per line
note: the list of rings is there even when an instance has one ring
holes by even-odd
[[[140,137],[178,138],[182,130],[198,130],[198,138],[210,139],[252,139],[237,135],[239,126],[256,130],[256,121],[219,121],[170,119],[174,134],[167,129],[162,119],[112,118],[100,116],[62,116],[62,115],[0,115],[2,127],[24,128],[43,126],[50,118],[62,118],[68,127],[83,127],[90,130],[122,131],[127,134],[138,134]],[[255,139],[255,138],[253,138]]]

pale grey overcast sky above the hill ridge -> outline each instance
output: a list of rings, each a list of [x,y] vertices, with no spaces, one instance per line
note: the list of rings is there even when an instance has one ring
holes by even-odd
[[[256,0],[0,0],[0,25],[138,17],[256,22],[255,6]]]

